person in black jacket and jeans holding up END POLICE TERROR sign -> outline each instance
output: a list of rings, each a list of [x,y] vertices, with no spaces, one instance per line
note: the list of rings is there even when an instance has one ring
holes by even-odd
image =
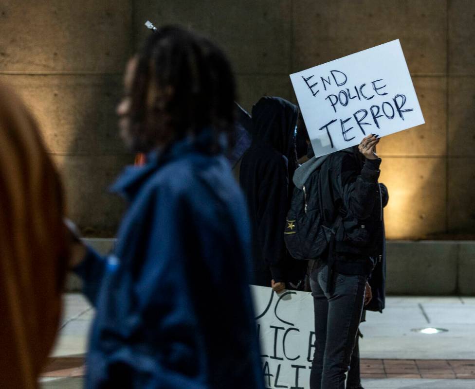
[[[315,260],[311,272],[311,389],[345,388],[363,307],[372,297],[366,280],[384,252],[382,209],[387,203],[387,191],[378,184],[378,142],[377,135],[369,135],[358,147],[311,158],[294,174],[296,188],[306,188],[309,211],[320,210],[325,220],[340,220],[330,223],[336,230],[334,243]]]

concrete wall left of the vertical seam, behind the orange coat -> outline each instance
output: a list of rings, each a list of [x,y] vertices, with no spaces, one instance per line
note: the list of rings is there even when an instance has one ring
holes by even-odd
[[[133,160],[114,114],[132,14],[128,0],[0,2],[0,80],[35,113],[63,174],[69,215],[95,234],[115,230],[122,202],[107,187]]]

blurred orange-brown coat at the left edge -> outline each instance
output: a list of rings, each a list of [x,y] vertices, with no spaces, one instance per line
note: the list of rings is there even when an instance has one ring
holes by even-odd
[[[61,313],[60,179],[37,124],[0,85],[0,388],[38,388]]]

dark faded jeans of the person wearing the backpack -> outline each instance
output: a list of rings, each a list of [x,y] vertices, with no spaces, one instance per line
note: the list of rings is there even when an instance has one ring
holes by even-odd
[[[345,373],[363,312],[366,277],[333,272],[327,293],[327,276],[328,266],[320,265],[310,281],[315,312],[310,388],[345,389]]]

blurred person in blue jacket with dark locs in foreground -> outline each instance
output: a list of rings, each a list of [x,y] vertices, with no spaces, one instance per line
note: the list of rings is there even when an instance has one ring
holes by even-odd
[[[130,60],[125,89],[121,135],[146,164],[112,187],[129,207],[108,257],[72,236],[97,309],[86,387],[262,389],[248,212],[223,156],[229,62],[209,40],[164,27]]]

